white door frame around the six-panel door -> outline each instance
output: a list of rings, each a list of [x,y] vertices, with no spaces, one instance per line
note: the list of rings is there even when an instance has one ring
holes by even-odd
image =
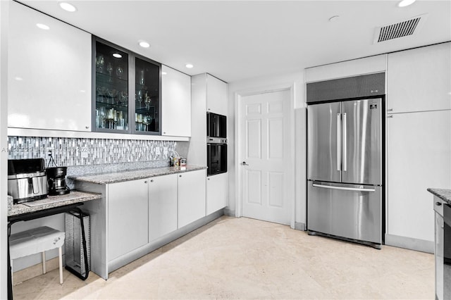
[[[288,170],[289,189],[287,193],[288,206],[290,207],[290,227],[295,229],[295,82],[287,82],[268,87],[255,87],[235,92],[235,217],[242,217],[242,98],[257,94],[266,94],[271,92],[290,91],[290,132],[288,138],[292,141],[290,144],[290,164]]]

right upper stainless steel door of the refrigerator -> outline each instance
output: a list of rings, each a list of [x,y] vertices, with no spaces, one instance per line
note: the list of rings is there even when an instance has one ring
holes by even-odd
[[[342,182],[382,184],[382,100],[343,101]]]

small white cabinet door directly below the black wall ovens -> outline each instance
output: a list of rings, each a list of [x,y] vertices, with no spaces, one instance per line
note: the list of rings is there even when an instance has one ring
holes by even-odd
[[[206,177],[206,214],[227,206],[227,173]]]

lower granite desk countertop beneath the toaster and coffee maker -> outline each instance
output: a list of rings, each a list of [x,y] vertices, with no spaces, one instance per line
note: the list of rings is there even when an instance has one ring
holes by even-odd
[[[11,196],[8,196],[8,198],[9,197]],[[35,213],[36,211],[44,211],[44,209],[48,208],[55,208],[58,206],[65,206],[68,204],[86,202],[100,198],[101,194],[70,191],[70,193],[66,195],[48,196],[45,199],[27,202],[27,204],[33,206],[27,206],[26,204],[13,204],[11,208],[8,209],[8,217],[11,217],[13,215],[22,215],[23,213]]]

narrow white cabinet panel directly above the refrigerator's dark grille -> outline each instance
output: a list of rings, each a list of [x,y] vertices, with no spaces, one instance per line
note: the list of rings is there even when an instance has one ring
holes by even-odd
[[[331,80],[357,75],[381,73],[387,68],[387,55],[370,56],[305,69],[305,82]]]

